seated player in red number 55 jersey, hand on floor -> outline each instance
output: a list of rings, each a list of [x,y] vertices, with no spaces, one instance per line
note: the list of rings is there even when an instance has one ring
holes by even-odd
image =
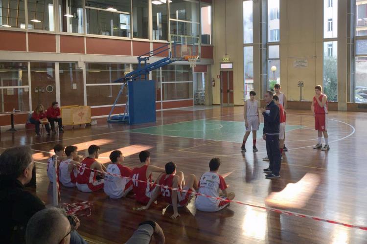
[[[138,210],[148,209],[152,202],[162,195],[163,199],[173,206],[173,215],[171,216],[171,219],[176,219],[180,216],[178,207],[186,206],[193,196],[192,192],[199,189],[198,180],[195,175],[191,174],[187,177],[187,183],[185,184],[184,173],[180,171],[176,175],[176,164],[173,162],[166,163],[165,173],[166,174],[161,174],[158,177],[158,184],[168,186],[169,188],[178,188],[179,190],[183,189],[185,191],[172,191],[167,187],[156,186],[148,204],[144,207],[138,208]]]

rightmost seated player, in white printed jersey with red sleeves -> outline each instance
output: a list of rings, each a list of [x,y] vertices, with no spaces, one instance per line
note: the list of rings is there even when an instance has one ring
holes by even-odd
[[[199,193],[203,195],[219,198],[220,191],[222,191],[222,198],[224,200],[233,200],[234,193],[227,193],[227,184],[224,178],[218,175],[218,169],[221,165],[221,160],[214,157],[209,162],[209,172],[204,173],[200,177],[199,181]],[[216,212],[229,206],[228,201],[221,201],[213,198],[207,198],[205,196],[196,196],[195,206],[200,211]]]

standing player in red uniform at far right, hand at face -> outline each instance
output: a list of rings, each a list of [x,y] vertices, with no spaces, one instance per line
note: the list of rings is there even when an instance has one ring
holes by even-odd
[[[327,134],[327,96],[322,93],[322,87],[315,87],[314,100],[311,105],[311,111],[315,117],[315,130],[318,133],[318,143],[313,147],[313,149],[321,149],[322,151],[327,151],[329,147],[329,137]],[[325,139],[325,145],[322,147],[321,139],[322,134]]]

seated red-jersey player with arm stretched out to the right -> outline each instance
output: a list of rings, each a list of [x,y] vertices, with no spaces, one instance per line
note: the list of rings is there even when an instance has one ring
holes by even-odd
[[[131,178],[133,181],[133,191],[135,193],[135,199],[143,204],[147,204],[152,196],[154,189],[152,182],[152,173],[164,173],[164,169],[149,165],[150,164],[150,153],[148,151],[141,151],[139,154],[140,163],[143,164],[140,167],[134,168],[131,172]],[[144,182],[141,182],[141,181]],[[148,183],[145,183],[148,182]]]

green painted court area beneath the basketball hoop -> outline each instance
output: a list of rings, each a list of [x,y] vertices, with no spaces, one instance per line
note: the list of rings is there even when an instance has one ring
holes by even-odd
[[[285,130],[286,132],[289,132],[303,127],[304,126],[286,125]],[[261,123],[257,133],[257,138],[262,137],[262,130],[263,124]],[[128,130],[126,132],[242,142],[243,135],[245,134],[245,122],[200,119]]]

